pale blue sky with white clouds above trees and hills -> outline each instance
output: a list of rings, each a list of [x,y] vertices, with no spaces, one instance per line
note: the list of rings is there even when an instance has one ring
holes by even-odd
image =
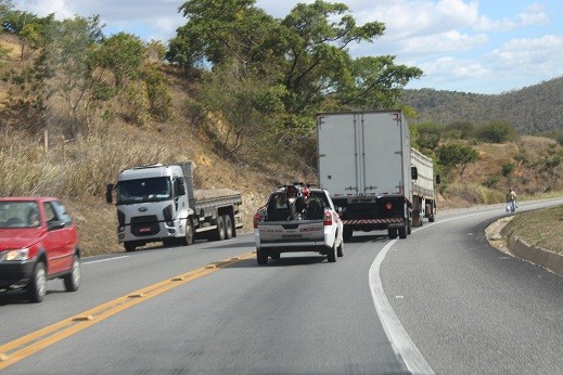
[[[99,14],[104,33],[166,42],[187,20],[176,0],[20,0],[17,8],[57,18]],[[257,0],[283,17],[302,0]],[[336,2],[336,1],[331,1]],[[360,55],[395,55],[424,72],[407,88],[498,94],[563,76],[562,0],[349,0],[359,24],[379,21],[385,35],[353,46]]]

